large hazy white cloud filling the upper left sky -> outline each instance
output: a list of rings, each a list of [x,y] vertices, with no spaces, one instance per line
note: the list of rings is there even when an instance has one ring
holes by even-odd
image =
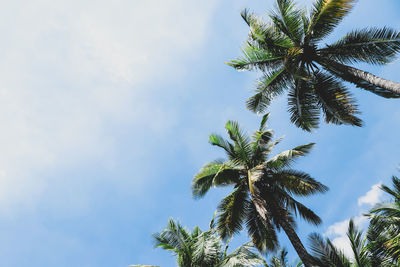
[[[184,74],[217,2],[4,3],[0,209],[34,203],[46,169],[107,160],[110,122],[142,123],[155,134],[171,128],[175,114],[159,103],[168,92],[152,81]]]

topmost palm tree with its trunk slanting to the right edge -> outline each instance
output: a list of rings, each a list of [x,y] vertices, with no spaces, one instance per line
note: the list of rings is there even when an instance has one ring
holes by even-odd
[[[277,0],[264,22],[248,10],[242,17],[250,27],[243,56],[228,64],[237,70],[260,70],[256,93],[247,101],[263,112],[271,100],[288,91],[288,111],[296,126],[311,131],[319,116],[327,123],[362,126],[358,108],[343,82],[385,98],[400,97],[400,84],[348,64],[384,65],[400,51],[400,33],[384,28],[353,30],[330,45],[320,42],[351,11],[356,0],[315,0],[310,14],[293,0]]]

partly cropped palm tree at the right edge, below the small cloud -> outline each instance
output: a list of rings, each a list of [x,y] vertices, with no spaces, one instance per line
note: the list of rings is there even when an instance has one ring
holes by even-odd
[[[373,245],[382,254],[400,261],[400,179],[392,177],[393,188],[382,185],[392,200],[377,204],[368,215],[370,228],[376,233]]]

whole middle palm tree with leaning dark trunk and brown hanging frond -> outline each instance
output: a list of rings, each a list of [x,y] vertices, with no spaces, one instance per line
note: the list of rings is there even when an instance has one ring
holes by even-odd
[[[213,186],[233,186],[233,192],[218,206],[217,229],[222,238],[238,233],[245,224],[260,251],[275,250],[276,230],[283,229],[305,266],[311,266],[312,258],[295,231],[295,216],[315,225],[321,219],[293,196],[325,192],[327,187],[307,173],[290,169],[297,158],[310,152],[313,143],[269,157],[281,139],[272,141],[267,119],[268,114],[251,138],[234,121],[225,125],[231,141],[211,134],[210,143],[222,148],[227,159],[206,164],[193,178],[192,193],[199,198]]]

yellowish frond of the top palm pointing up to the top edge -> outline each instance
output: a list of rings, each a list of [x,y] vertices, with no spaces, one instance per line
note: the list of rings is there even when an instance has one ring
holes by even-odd
[[[356,0],[316,0],[311,12],[306,42],[319,41],[350,13]]]

